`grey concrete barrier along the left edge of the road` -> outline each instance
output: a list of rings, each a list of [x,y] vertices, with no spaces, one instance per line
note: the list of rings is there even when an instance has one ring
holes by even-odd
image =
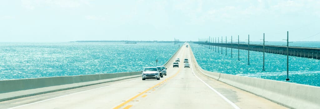
[[[0,80],[0,101],[140,77],[141,72]]]

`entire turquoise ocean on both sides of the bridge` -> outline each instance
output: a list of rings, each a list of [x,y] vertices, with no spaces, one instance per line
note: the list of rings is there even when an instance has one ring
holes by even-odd
[[[260,44],[261,42],[251,42]],[[285,42],[268,42],[282,45]],[[183,43],[0,43],[0,80],[72,76],[86,74],[135,72],[144,67],[163,65]],[[198,64],[207,71],[285,81],[286,56],[225,48],[223,54],[199,44],[189,43]],[[291,46],[318,47],[319,42],[294,42]],[[221,48],[220,48],[221,49]],[[156,63],[156,59],[158,63]],[[318,59],[289,56],[289,78],[292,83],[320,86]]]

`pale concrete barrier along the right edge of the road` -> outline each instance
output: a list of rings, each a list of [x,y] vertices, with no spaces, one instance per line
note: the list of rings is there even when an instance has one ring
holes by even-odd
[[[190,55],[193,56],[192,51]],[[209,72],[203,70],[195,58],[194,60],[195,70],[199,70],[202,74],[283,106],[297,109],[320,108],[320,87]]]

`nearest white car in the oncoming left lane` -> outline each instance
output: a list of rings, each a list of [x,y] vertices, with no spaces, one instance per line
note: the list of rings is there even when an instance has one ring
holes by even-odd
[[[157,67],[146,67],[142,72],[142,80],[146,79],[157,79],[160,80],[160,71]]]

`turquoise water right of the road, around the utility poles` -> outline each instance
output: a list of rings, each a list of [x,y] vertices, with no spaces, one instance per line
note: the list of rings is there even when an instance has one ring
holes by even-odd
[[[258,44],[258,42],[256,42]],[[280,45],[282,42],[273,42],[272,45]],[[292,43],[291,43],[292,44]],[[297,44],[297,43],[296,43]],[[319,47],[318,43],[311,43],[312,47]],[[308,43],[299,43],[296,46]],[[287,78],[287,56],[265,53],[265,72],[262,71],[263,53],[250,51],[250,65],[248,64],[248,51],[240,50],[240,61],[238,60],[238,49],[223,48],[220,52],[210,50],[198,44],[190,43],[192,51],[198,64],[204,69],[212,72],[221,72],[240,76],[272,79],[285,81]],[[217,48],[218,49],[218,48]],[[210,63],[210,64],[208,64]],[[289,78],[292,83],[320,86],[320,60],[289,56]]]

